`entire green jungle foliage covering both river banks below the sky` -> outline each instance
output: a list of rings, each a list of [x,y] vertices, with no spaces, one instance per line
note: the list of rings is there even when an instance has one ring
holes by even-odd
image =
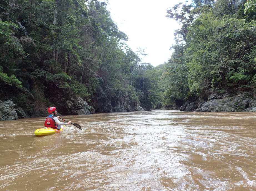
[[[126,45],[107,1],[2,0],[0,100],[32,114],[79,95],[99,112],[107,100],[178,108],[207,90],[255,88],[255,2],[194,0],[167,9],[180,29],[171,59],[153,67],[142,62],[143,50]]]

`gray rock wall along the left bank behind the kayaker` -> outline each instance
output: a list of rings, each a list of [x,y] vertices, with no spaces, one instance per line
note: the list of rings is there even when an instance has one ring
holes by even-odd
[[[104,100],[94,106],[89,105],[80,96],[72,96],[71,98],[55,98],[54,105],[59,114],[58,115],[83,115],[109,112],[128,112],[128,111],[145,111],[139,102],[126,100]],[[0,100],[0,121],[16,120],[28,117],[43,117],[47,116],[47,107],[45,110],[32,112],[28,109],[22,108],[11,100]]]

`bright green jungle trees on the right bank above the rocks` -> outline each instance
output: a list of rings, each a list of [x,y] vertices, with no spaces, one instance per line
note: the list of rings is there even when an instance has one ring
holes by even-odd
[[[167,10],[180,23],[164,66],[164,106],[206,91],[235,94],[256,85],[256,1],[194,0]]]

